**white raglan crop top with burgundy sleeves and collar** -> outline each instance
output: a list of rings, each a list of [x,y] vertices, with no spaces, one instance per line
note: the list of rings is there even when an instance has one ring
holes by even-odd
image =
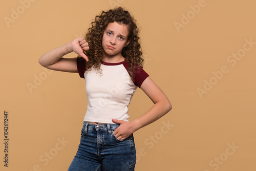
[[[77,57],[77,70],[81,78],[86,80],[88,99],[84,121],[114,123],[112,119],[129,121],[128,105],[148,74],[139,66],[134,70],[134,81],[129,74],[129,63],[126,61],[108,63],[101,61],[97,71],[92,67],[86,71],[86,60]],[[101,73],[100,73],[101,71]]]

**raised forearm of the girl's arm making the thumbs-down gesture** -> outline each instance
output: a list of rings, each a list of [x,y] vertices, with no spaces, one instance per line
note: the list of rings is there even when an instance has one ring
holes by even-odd
[[[43,67],[48,67],[56,63],[61,57],[64,55],[71,53],[73,51],[71,42],[69,42],[66,45],[60,46],[58,48],[55,48],[53,50],[50,50],[49,52],[42,55],[38,62]]]

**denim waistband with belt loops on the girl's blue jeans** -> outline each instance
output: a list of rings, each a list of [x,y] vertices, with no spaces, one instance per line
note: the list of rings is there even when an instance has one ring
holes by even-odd
[[[87,130],[96,130],[96,131],[108,131],[111,134],[111,130],[115,130],[119,124],[105,123],[105,124],[93,124],[83,121],[84,131],[87,133]]]

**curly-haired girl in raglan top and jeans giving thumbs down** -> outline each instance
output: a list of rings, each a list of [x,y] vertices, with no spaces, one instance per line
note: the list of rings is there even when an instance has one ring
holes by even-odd
[[[75,58],[62,56],[75,52]],[[121,7],[95,17],[79,37],[39,58],[51,70],[79,73],[86,81],[87,112],[71,170],[134,170],[133,133],[172,109],[168,98],[142,69],[136,21]],[[128,105],[137,87],[154,102],[129,122]]]

